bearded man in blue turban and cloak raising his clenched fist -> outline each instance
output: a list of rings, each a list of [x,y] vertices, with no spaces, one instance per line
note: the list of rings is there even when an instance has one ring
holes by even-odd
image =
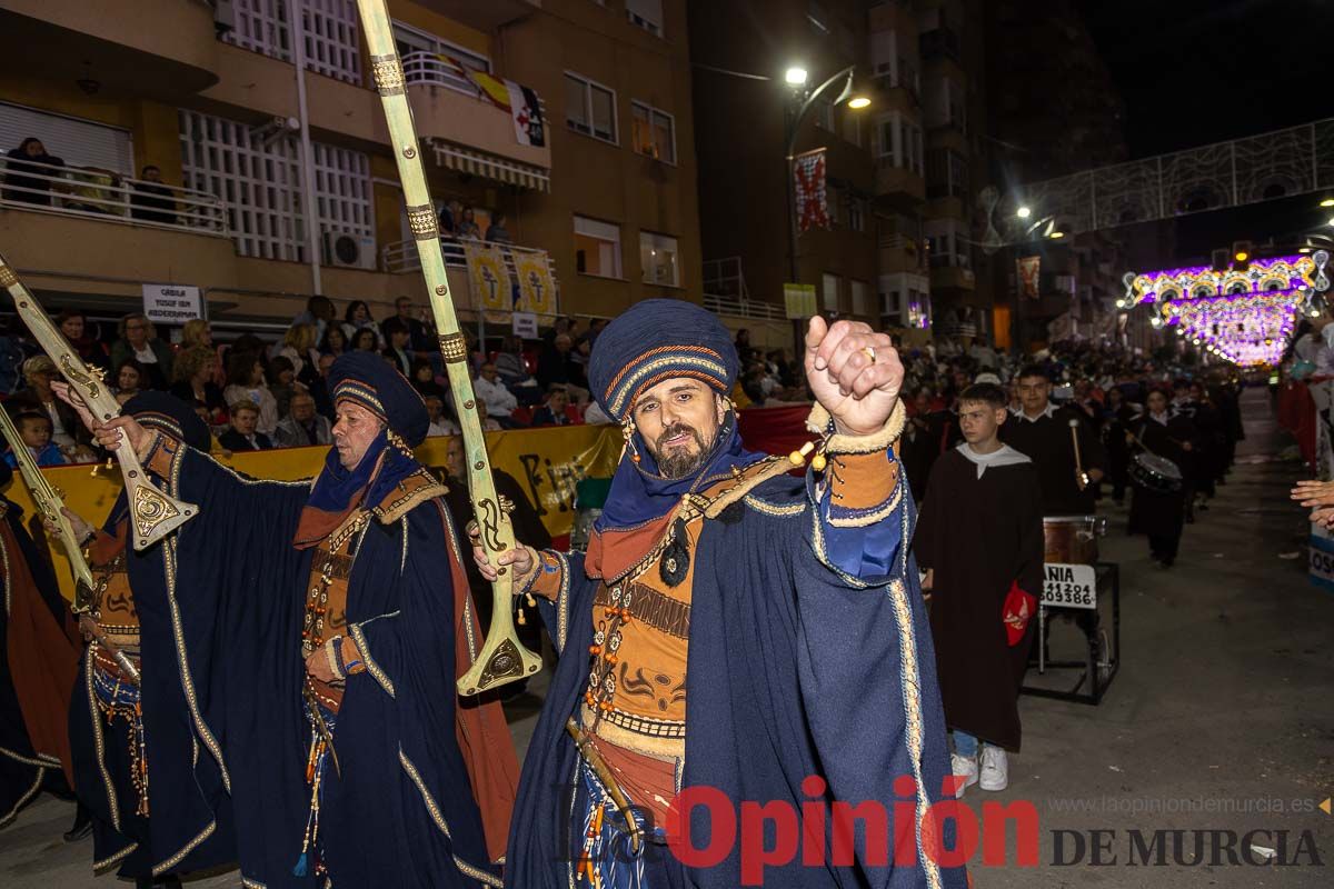
[[[562,652],[508,886],[964,885],[928,812],[952,788],[895,454],[899,359],[864,324],[811,320],[804,477],[802,454],[742,445],[736,371],[696,305],[614,320],[590,380],[626,448],[588,550],[496,558]]]

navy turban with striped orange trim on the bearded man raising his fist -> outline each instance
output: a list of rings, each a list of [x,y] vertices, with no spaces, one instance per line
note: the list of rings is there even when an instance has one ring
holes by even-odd
[[[624,424],[635,400],[663,380],[694,377],[726,396],[739,367],[716,315],[682,300],[644,300],[598,335],[588,384],[607,416]]]

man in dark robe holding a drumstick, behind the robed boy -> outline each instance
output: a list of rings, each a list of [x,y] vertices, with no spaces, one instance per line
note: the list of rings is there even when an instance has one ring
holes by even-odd
[[[1000,440],[1038,468],[1042,514],[1091,516],[1107,453],[1089,416],[1053,404],[1051,379],[1038,365],[1022,368],[1015,380],[1019,411],[1000,427]]]

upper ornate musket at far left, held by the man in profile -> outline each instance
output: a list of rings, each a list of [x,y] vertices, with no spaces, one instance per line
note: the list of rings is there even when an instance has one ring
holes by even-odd
[[[0,287],[9,291],[19,317],[32,331],[33,339],[56,363],[60,373],[69,381],[73,392],[83,397],[84,404],[99,421],[105,423],[120,416],[120,403],[101,381],[101,371],[89,368],[69,345],[69,340],[51,323],[41,303],[19,280],[15,271],[0,256]],[[121,436],[116,448],[120,472],[125,477],[125,494],[129,500],[129,526],[133,530],[135,549],[147,549],[159,540],[185,524],[199,513],[195,504],[168,497],[159,490],[144,473],[129,439]]]

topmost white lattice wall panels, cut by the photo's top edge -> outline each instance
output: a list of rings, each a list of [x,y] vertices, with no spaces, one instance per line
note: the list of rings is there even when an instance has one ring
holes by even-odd
[[[223,40],[292,61],[292,28],[285,0],[232,0],[235,27]],[[347,83],[362,83],[362,39],[356,0],[301,4],[305,67]]]

